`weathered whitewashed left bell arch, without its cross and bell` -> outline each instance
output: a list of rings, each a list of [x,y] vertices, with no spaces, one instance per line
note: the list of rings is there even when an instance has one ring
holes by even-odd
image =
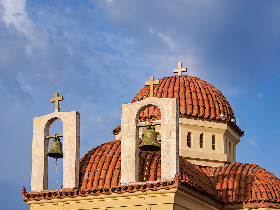
[[[50,125],[57,119],[63,124],[63,188],[79,187],[80,113],[53,112],[33,118],[31,191],[48,188],[48,143]]]

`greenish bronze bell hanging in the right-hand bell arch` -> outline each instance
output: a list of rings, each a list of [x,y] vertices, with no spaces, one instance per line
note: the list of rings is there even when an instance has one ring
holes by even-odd
[[[139,145],[139,149],[144,151],[160,150],[160,144],[157,140],[157,132],[155,131],[155,127],[152,126],[151,122],[147,127],[147,130],[144,131],[144,138],[142,143]]]

